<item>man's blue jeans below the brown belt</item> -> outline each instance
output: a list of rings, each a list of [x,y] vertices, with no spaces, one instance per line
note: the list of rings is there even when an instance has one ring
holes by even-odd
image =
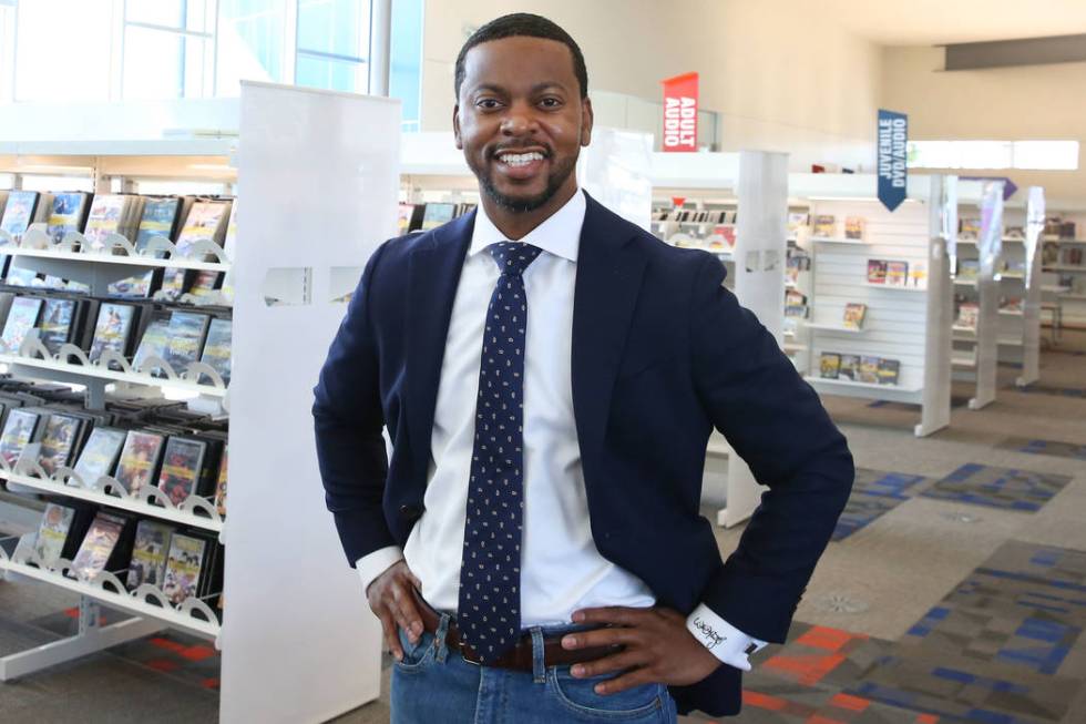
[[[601,696],[593,686],[614,676],[574,679],[570,666],[543,665],[543,638],[576,626],[531,630],[535,669],[477,666],[445,644],[449,614],[437,634],[412,645],[400,631],[403,661],[392,664],[392,724],[675,724],[675,702],[663,684]]]

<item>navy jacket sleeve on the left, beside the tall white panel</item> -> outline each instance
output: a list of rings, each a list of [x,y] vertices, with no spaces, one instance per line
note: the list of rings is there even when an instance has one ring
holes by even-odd
[[[386,246],[370,256],[314,389],[317,460],[347,560],[395,545],[381,501],[388,456],[371,319],[373,276]]]

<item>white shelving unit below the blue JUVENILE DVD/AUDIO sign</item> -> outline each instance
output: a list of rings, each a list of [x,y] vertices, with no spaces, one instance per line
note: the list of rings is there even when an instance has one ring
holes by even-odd
[[[806,378],[820,395],[839,395],[920,406],[916,436],[950,424],[950,336],[952,298],[946,239],[956,225],[952,207],[956,179],[913,176],[908,198],[895,212],[882,206],[873,175],[791,174],[789,195],[810,204],[816,233],[812,249],[812,309]],[[820,222],[821,217],[821,222]],[[829,222],[832,217],[832,222]],[[852,221],[860,238],[847,233]],[[901,284],[869,281],[872,262],[908,264]],[[903,269],[903,266],[899,266]],[[864,305],[859,329],[844,325],[848,305]],[[841,378],[823,354],[859,358],[868,377]],[[878,360],[898,364],[897,381],[874,381]],[[852,367],[848,367],[852,370]],[[823,375],[830,375],[824,377]],[[858,379],[860,377],[860,379]]]

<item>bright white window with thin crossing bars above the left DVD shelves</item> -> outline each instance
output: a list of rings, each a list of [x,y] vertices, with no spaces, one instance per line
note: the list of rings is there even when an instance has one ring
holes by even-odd
[[[215,0],[124,0],[122,95],[214,95],[215,4]]]

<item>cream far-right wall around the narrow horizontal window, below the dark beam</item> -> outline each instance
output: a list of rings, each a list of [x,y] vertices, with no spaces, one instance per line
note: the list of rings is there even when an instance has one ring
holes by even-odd
[[[1086,146],[1086,63],[943,72],[940,48],[887,48],[883,59],[883,104],[909,114],[912,139],[1068,140]],[[1044,186],[1053,212],[1086,205],[1082,167],[955,173],[1007,175],[1020,193]]]

